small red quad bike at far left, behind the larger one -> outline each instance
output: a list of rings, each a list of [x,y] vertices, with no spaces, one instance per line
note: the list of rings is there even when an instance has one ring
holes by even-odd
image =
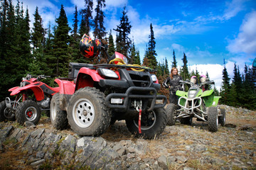
[[[41,111],[46,111],[46,115],[49,115],[50,99],[60,91],[60,87],[50,87],[39,81],[47,77],[39,75],[35,78],[27,74],[20,86],[9,89],[10,95],[15,96],[15,99],[11,101],[11,98],[6,97],[0,103],[0,121],[17,120],[21,125],[25,121],[31,121],[36,124],[41,118]],[[55,82],[61,86],[65,80],[55,79]]]

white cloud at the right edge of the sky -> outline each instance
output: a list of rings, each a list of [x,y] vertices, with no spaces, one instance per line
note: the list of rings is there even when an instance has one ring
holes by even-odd
[[[247,14],[240,26],[240,33],[235,40],[230,40],[228,50],[230,52],[256,52],[256,11]]]

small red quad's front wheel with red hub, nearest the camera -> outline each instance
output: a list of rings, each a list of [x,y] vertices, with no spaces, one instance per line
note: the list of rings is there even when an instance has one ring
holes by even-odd
[[[26,121],[30,121],[36,125],[41,118],[41,110],[35,101],[23,101],[17,107],[15,116],[17,122],[21,125]]]

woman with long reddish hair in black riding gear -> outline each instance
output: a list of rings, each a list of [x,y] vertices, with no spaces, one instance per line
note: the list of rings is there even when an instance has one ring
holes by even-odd
[[[183,90],[179,81],[182,77],[178,75],[178,69],[176,67],[171,68],[171,74],[166,78],[162,84],[165,88],[169,88],[169,101],[170,103],[177,104],[178,96],[176,96],[177,90]]]

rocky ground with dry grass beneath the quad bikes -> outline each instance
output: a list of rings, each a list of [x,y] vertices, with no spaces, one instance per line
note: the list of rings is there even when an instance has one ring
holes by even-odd
[[[256,112],[226,108],[226,125],[167,126],[154,140],[134,138],[124,121],[101,137],[0,123],[0,169],[256,169]]]

